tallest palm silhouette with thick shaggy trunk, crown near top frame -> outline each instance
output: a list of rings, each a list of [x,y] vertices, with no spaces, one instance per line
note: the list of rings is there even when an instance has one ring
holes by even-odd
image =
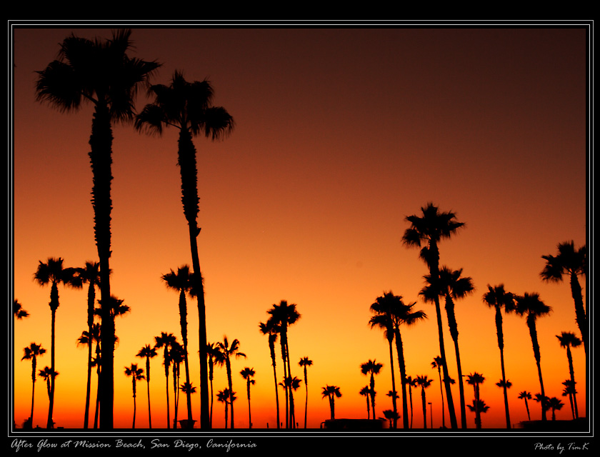
[[[94,238],[100,263],[100,292],[111,297],[111,162],[112,123],[133,119],[134,97],[139,84],[147,84],[159,67],[156,62],[130,58],[131,31],[114,31],[112,39],[83,39],[71,35],[61,44],[59,57],[38,71],[37,100],[59,111],[77,111],[83,102],[94,106],[89,158],[93,174],[91,204]],[[101,428],[113,428],[114,331],[109,311],[102,316],[104,357],[101,370]]]

